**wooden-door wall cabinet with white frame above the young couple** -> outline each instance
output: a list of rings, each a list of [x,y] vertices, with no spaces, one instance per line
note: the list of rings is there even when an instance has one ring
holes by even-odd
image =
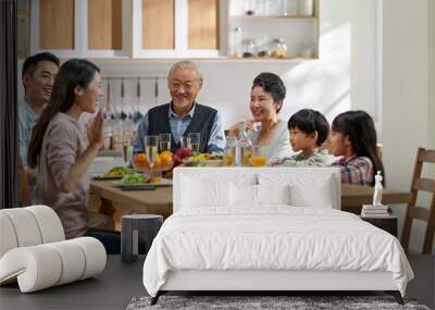
[[[33,0],[30,52],[60,58],[129,54],[130,1]]]

